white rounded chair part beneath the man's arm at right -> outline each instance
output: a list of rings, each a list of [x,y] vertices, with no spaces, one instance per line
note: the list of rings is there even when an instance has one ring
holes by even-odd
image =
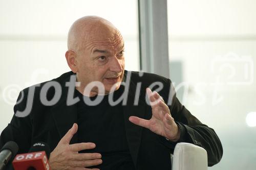
[[[207,170],[207,152],[195,144],[180,142],[171,155],[172,170]]]

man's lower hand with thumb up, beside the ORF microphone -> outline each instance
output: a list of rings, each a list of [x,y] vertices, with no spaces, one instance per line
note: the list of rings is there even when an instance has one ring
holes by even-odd
[[[89,166],[99,165],[102,163],[99,153],[78,153],[81,150],[93,149],[94,143],[75,143],[69,144],[73,135],[77,132],[78,126],[73,127],[59,141],[57,147],[51,152],[49,164],[52,170],[58,169],[75,169],[84,170]],[[97,168],[94,168],[96,170]],[[99,170],[99,169],[97,169]]]

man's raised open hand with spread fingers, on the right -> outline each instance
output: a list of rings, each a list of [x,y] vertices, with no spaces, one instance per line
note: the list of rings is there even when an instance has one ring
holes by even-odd
[[[170,114],[168,106],[156,91],[152,92],[150,88],[146,88],[146,93],[150,99],[150,105],[152,108],[151,119],[146,120],[136,116],[130,116],[130,122],[147,128],[171,141],[178,141],[180,139],[180,131],[174,121],[174,118]]]

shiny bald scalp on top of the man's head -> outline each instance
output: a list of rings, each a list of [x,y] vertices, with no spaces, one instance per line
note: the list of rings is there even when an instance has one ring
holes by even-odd
[[[68,34],[68,50],[78,52],[84,44],[90,43],[92,36],[99,35],[105,30],[120,34],[117,28],[108,20],[98,16],[84,16],[77,19]]]

